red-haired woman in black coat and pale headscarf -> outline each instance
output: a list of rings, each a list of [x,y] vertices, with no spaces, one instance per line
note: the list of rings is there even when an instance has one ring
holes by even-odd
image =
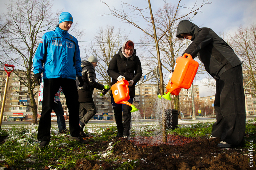
[[[129,103],[132,104],[132,100],[135,96],[135,85],[142,76],[142,69],[139,57],[136,55],[134,49],[134,43],[132,41],[124,42],[119,52],[113,56],[109,63],[108,75],[112,78],[111,85],[114,85],[117,81],[125,79],[129,82]],[[113,106],[117,135],[116,137],[128,137],[131,124],[131,110],[132,107],[125,104],[116,104],[111,91],[111,103]],[[123,112],[123,115],[122,115]],[[123,123],[124,117],[124,123]]]

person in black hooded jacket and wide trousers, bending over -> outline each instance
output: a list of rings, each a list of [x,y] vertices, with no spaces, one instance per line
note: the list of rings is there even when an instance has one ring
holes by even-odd
[[[243,60],[212,29],[199,28],[188,20],[180,21],[176,37],[193,41],[184,53],[193,59],[198,56],[205,70],[216,80],[217,121],[212,126],[212,137],[220,137],[217,146],[227,148],[241,144],[245,133]]]

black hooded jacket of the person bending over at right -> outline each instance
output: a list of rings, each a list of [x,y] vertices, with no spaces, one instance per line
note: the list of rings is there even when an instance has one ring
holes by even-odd
[[[198,56],[205,70],[215,79],[225,71],[242,64],[234,50],[210,28],[199,28],[188,20],[180,21],[177,34],[189,33],[193,41],[184,53]]]

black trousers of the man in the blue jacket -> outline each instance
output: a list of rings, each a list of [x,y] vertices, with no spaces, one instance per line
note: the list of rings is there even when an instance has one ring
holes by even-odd
[[[72,137],[79,136],[79,103],[76,80],[67,78],[45,78],[42,115],[39,120],[37,140],[44,141],[51,138],[51,113],[54,104],[54,96],[62,87],[66,97],[69,112],[69,129]]]

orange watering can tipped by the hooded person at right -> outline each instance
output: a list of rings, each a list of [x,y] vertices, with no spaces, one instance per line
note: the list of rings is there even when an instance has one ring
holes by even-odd
[[[186,57],[187,56],[187,57]],[[181,88],[188,89],[196,76],[199,64],[193,60],[190,54],[184,54],[176,60],[176,67],[173,71],[171,83],[166,85],[167,94],[164,99],[171,100],[170,94],[178,96]]]

